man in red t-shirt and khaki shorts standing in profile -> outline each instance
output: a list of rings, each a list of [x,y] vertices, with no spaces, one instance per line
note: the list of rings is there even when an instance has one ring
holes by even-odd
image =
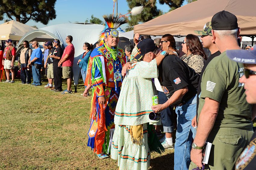
[[[75,48],[71,43],[72,40],[73,37],[71,35],[66,37],[67,47],[65,48],[61,60],[58,63],[59,67],[62,65],[62,77],[67,79],[67,90],[64,90],[61,94],[71,93],[71,70],[75,54]]]

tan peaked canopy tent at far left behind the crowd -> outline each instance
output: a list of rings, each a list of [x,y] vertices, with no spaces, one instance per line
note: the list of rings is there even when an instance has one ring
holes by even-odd
[[[26,24],[20,23],[18,21],[11,20],[0,25],[0,40],[11,39],[13,41],[19,41],[23,35],[33,30],[36,30],[36,28],[27,26]],[[52,39],[52,37],[48,35],[42,35],[41,37],[37,37],[33,40],[47,41],[48,39]]]

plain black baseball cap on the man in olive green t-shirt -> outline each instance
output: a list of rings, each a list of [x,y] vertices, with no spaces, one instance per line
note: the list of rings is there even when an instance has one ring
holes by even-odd
[[[237,18],[228,11],[220,11],[212,17],[211,26],[214,30],[237,29]]]

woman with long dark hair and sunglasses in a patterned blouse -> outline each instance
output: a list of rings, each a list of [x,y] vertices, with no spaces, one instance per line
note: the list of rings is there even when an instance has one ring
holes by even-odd
[[[182,43],[182,51],[185,54],[180,59],[186,62],[196,73],[201,74],[207,56],[199,38],[196,35],[188,34]]]

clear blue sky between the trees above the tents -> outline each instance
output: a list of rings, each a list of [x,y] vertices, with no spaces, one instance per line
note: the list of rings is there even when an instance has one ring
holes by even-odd
[[[183,4],[186,4],[186,0]],[[170,9],[168,5],[160,5],[158,1],[157,7],[164,13],[168,12]],[[47,26],[69,22],[83,23],[87,18],[90,19],[92,14],[94,17],[103,20],[102,16],[104,14],[112,14],[113,0],[57,0],[55,11],[56,18],[49,21]],[[126,0],[119,0],[118,13],[126,14],[128,11],[129,7]],[[0,24],[1,23],[4,23],[4,21],[0,21]],[[28,21],[26,24],[29,26],[36,25],[38,28],[46,26],[42,23],[36,23],[33,20]]]

